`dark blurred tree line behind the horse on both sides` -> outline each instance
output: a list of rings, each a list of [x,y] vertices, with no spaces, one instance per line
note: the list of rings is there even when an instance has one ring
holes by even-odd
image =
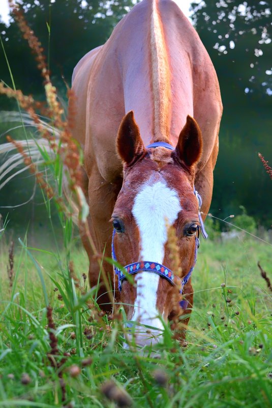
[[[26,20],[43,44],[53,82],[63,98],[76,63],[107,40],[132,6],[131,0],[22,1]],[[271,181],[257,153],[271,164],[271,8],[265,1],[209,0],[192,4],[192,9],[194,26],[215,65],[224,105],[210,212],[224,219],[240,213],[242,205],[259,224],[270,227]],[[42,79],[17,24],[11,20],[7,27],[0,21],[0,32],[17,89],[42,99]],[[3,49],[0,61],[0,79],[11,85]],[[16,104],[0,97],[0,109],[16,109]],[[1,132],[7,129],[0,126]],[[4,142],[2,137],[0,143]],[[33,178],[17,177],[0,191],[0,206],[26,201],[33,184]],[[33,224],[42,225],[40,202],[37,194],[25,206],[0,208],[0,213],[5,217],[9,212],[14,226],[24,226],[29,219],[22,213],[31,213]]]

